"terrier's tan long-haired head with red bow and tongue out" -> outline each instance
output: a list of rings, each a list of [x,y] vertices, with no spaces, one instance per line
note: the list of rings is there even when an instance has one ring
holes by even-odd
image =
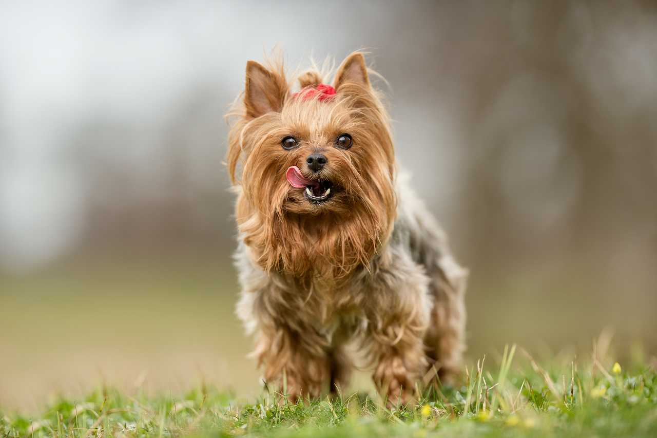
[[[228,166],[241,187],[237,220],[261,266],[334,275],[367,265],[395,212],[388,115],[361,53],[291,93],[283,66],[246,65],[246,89],[229,134]]]

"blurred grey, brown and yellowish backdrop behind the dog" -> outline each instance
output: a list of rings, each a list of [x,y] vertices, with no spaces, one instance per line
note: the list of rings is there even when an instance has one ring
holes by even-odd
[[[223,114],[248,59],[355,49],[471,270],[470,358],[657,347],[657,7],[3,1],[0,405],[104,381],[258,394]],[[385,84],[378,83],[380,87]]]

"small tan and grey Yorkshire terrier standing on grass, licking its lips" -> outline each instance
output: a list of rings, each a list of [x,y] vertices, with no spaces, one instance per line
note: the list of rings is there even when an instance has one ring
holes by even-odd
[[[237,314],[265,381],[286,381],[293,401],[347,385],[350,341],[381,395],[404,403],[434,366],[453,377],[465,347],[466,270],[397,175],[370,74],[355,52],[332,86],[308,70],[292,93],[283,62],[248,61],[231,112]]]

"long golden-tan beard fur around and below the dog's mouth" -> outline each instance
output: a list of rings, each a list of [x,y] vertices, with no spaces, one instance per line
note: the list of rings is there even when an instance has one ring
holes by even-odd
[[[394,220],[394,189],[387,166],[367,178],[344,167],[317,177],[308,187],[291,187],[262,170],[246,176],[238,200],[244,242],[267,271],[296,277],[344,278],[368,268],[387,241]]]

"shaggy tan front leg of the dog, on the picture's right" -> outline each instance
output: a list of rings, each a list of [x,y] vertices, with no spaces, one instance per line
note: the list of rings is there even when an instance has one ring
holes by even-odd
[[[389,268],[388,268],[389,266]],[[411,402],[426,371],[424,334],[432,302],[422,268],[403,253],[382,264],[369,293],[374,384],[388,404]]]

